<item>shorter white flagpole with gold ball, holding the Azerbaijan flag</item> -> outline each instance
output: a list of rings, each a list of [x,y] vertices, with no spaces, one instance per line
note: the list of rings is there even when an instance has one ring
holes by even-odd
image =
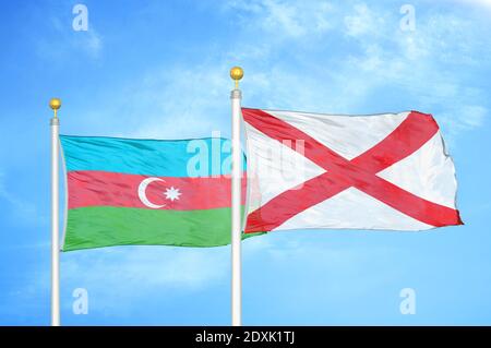
[[[51,326],[60,326],[60,247],[59,247],[59,128],[58,109],[61,100],[52,98],[51,118]]]

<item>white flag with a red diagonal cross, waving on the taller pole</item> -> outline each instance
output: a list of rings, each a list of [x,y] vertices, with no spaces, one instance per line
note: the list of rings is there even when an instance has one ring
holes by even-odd
[[[462,225],[439,125],[417,111],[333,116],[242,109],[246,232]]]

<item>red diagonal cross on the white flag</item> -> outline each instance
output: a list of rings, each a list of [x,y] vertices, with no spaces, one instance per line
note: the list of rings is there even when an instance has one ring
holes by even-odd
[[[423,200],[380,177],[378,172],[406,158],[439,130],[431,115],[412,111],[379,144],[348,160],[294,125],[259,109],[242,109],[249,124],[284,145],[303,140],[303,156],[328,170],[295,190],[282,192],[248,216],[246,232],[270,231],[289,218],[339,192],[355,187],[388,206],[424,224],[462,225],[456,209]],[[289,142],[284,142],[285,140]]]

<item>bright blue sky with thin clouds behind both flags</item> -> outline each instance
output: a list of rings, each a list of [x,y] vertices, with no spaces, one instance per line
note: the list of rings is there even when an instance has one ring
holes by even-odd
[[[491,1],[84,1],[87,32],[72,28],[76,3],[0,7],[0,324],[49,324],[49,98],[63,100],[64,134],[228,136],[235,64],[249,107],[433,113],[466,223],[248,240],[243,323],[491,324]],[[415,31],[399,25],[404,4]],[[62,254],[62,323],[228,325],[229,260],[229,248]]]

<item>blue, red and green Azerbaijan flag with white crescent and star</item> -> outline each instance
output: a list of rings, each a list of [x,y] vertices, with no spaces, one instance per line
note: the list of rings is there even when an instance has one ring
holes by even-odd
[[[63,251],[230,243],[230,141],[60,135],[60,143],[68,189]]]

